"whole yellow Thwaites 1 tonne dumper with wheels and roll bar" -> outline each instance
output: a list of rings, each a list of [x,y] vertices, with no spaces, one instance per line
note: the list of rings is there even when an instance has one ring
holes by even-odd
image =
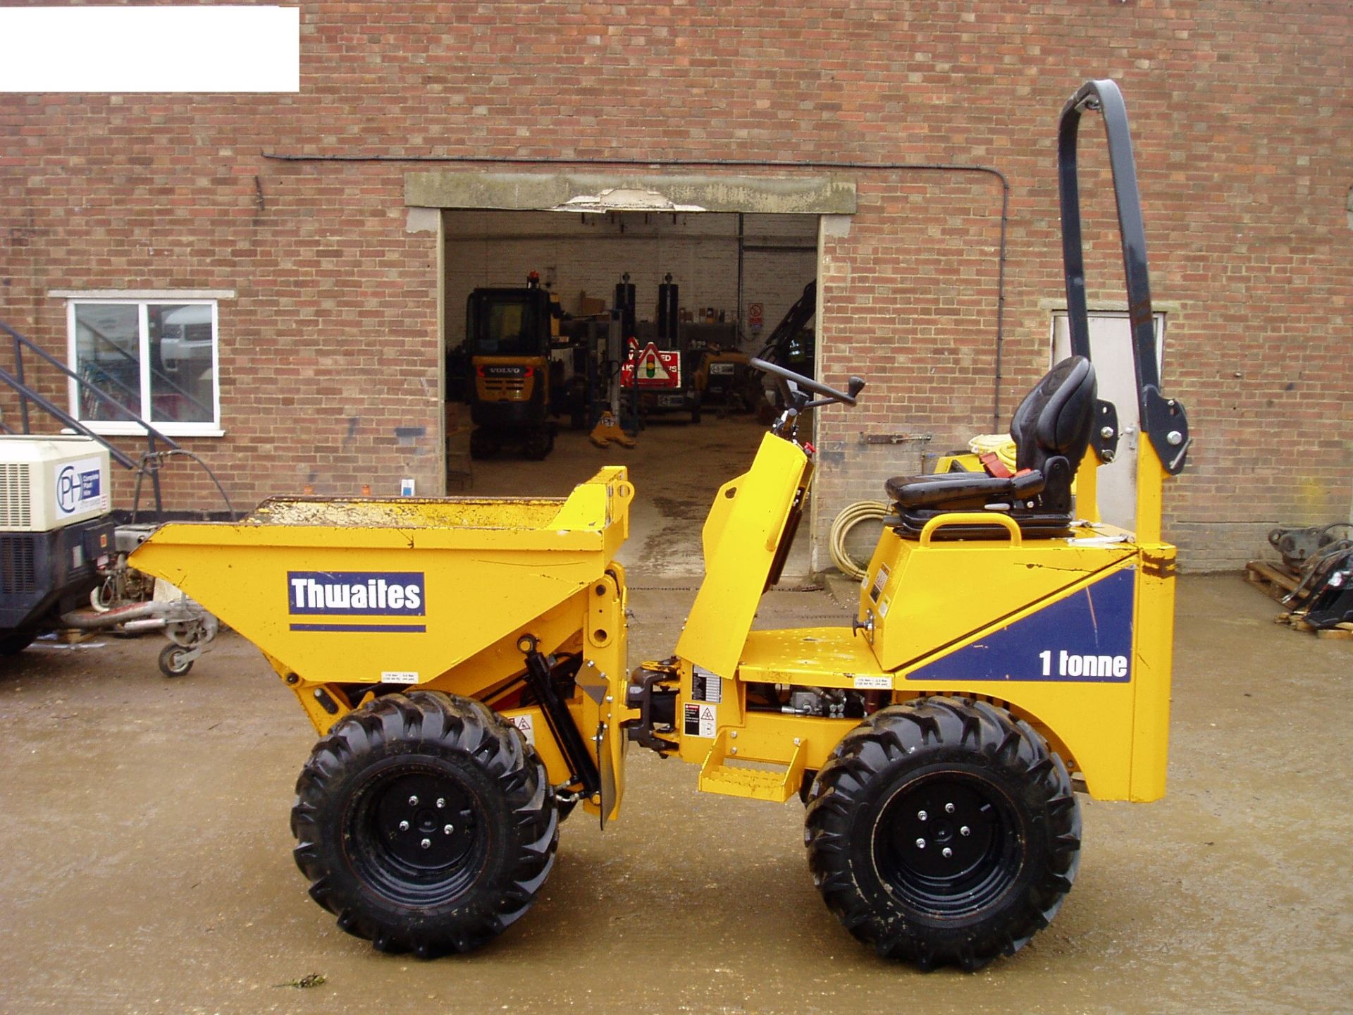
[[[1089,360],[1076,134],[1104,115],[1138,409],[1137,531],[1099,520],[1114,406]],[[133,558],[254,641],[321,734],[296,785],[315,901],[380,950],[476,947],[544,889],[559,821],[620,815],[625,750],[712,793],[806,803],[812,876],[881,954],[976,969],[1045,927],[1076,877],[1073,777],[1165,792],[1174,549],[1161,487],[1188,448],[1160,391],[1127,120],[1109,81],[1062,114],[1073,355],[1015,413],[1012,475],[888,483],[850,627],[752,631],[812,482],[808,407],[846,390],[785,367],[785,410],[704,526],[705,578],[671,656],[632,671],[616,551],[635,489],[567,499],[275,499],[165,525]],[[1073,495],[1074,480],[1074,495]]]

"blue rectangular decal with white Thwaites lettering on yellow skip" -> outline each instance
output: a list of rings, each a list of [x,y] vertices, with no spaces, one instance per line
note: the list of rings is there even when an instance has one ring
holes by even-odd
[[[372,618],[428,614],[422,571],[287,571],[287,613],[323,617],[292,623],[292,631],[419,633],[426,624],[388,624]]]

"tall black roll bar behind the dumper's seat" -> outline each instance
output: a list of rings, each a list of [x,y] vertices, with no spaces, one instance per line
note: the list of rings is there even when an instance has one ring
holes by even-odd
[[[1142,430],[1150,437],[1161,466],[1170,475],[1184,468],[1188,455],[1188,418],[1184,406],[1161,394],[1161,372],[1155,353],[1155,319],[1151,313],[1151,286],[1146,268],[1146,230],[1137,189],[1137,165],[1128,134],[1127,107],[1118,84],[1086,81],[1062,108],[1057,131],[1057,181],[1062,206],[1062,264],[1066,273],[1066,318],[1072,353],[1091,355],[1089,318],[1085,306],[1085,254],[1081,242],[1081,198],[1076,173],[1076,139],[1082,111],[1104,118],[1109,168],[1114,172],[1114,199],[1118,204],[1118,231],[1123,241],[1123,276],[1127,281],[1127,317],[1132,329],[1132,361],[1137,369],[1137,399]]]

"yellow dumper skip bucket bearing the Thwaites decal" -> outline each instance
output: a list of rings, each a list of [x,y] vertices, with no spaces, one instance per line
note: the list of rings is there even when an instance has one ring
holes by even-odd
[[[291,499],[169,524],[131,556],[306,682],[428,683],[605,574],[633,486],[567,499]]]

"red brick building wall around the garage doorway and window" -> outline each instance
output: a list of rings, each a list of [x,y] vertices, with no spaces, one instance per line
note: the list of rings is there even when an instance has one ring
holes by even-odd
[[[0,319],[64,352],[51,288],[237,290],[221,307],[227,436],[189,447],[239,501],[438,474],[436,235],[405,231],[406,166],[262,152],[993,165],[1012,188],[1008,414],[1046,363],[1039,300],[1061,287],[1057,112],[1112,76],[1154,294],[1177,306],[1166,388],[1196,437],[1166,532],[1187,564],[1231,566],[1275,522],[1349,516],[1342,0],[308,3],[302,26],[295,96],[0,96]],[[1112,299],[1085,126],[1091,295]],[[877,448],[861,432],[990,429],[999,185],[855,177],[859,214],[827,245],[823,368],[871,386],[856,413],[824,414],[839,455],[824,503],[888,471],[858,460]],[[428,436],[400,447],[396,425]],[[172,479],[206,501],[185,466]]]

